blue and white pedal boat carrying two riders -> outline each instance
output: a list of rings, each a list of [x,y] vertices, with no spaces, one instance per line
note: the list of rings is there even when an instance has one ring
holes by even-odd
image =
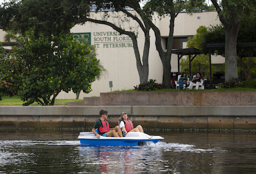
[[[164,139],[161,136],[151,136],[142,132],[129,132],[126,137],[105,137],[99,139],[93,132],[80,132],[81,146],[138,146],[146,142],[157,143]]]

